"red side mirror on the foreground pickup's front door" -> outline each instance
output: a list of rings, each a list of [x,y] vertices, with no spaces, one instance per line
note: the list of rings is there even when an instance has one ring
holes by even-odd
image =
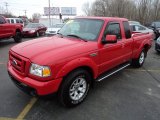
[[[117,36],[116,35],[106,35],[105,40],[102,40],[103,44],[107,43],[117,43]]]

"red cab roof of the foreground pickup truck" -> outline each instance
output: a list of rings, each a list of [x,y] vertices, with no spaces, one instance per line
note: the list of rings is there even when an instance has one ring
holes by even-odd
[[[126,18],[119,18],[119,17],[76,17],[76,18],[86,18],[86,19],[98,19],[98,20],[118,20],[118,21],[128,21]]]

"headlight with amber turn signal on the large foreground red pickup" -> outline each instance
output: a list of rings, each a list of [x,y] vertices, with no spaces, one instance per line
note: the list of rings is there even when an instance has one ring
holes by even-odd
[[[51,76],[51,70],[47,66],[40,66],[32,63],[30,67],[30,74],[39,77],[49,77]]]

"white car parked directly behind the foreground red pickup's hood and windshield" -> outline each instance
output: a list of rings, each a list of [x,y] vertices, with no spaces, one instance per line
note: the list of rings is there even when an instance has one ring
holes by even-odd
[[[55,35],[58,33],[58,31],[63,27],[63,23],[58,23],[58,24],[55,24],[51,27],[48,27],[47,30],[46,30],[46,35],[47,36],[50,36],[50,35]]]

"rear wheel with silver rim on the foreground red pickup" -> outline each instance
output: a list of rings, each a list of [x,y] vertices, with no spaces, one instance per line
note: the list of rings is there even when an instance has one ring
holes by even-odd
[[[141,67],[145,61],[146,54],[147,53],[145,52],[145,50],[142,50],[139,57],[137,59],[132,60],[131,65],[136,68]]]

